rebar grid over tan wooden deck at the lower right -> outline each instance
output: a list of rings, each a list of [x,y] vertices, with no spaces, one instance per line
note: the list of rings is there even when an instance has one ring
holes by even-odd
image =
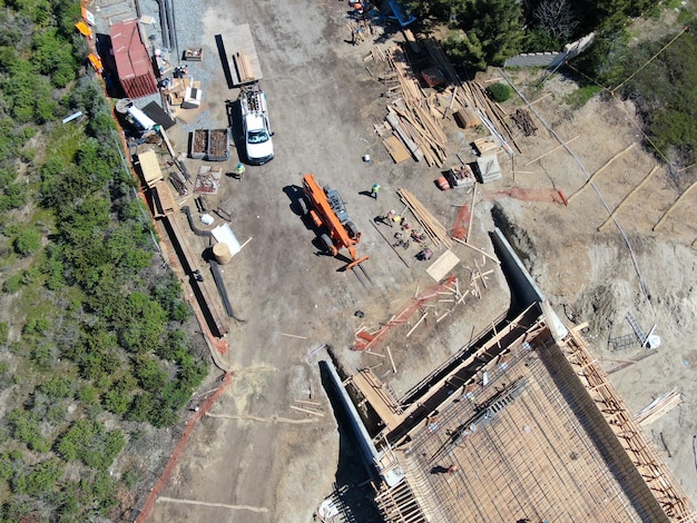
[[[540,359],[537,349],[552,343],[544,332],[492,362],[485,387],[480,375],[475,391],[463,388],[402,447],[412,496],[438,507],[430,521],[641,521],[587,433],[591,425]],[[522,392],[482,418],[481,406],[519,378]]]

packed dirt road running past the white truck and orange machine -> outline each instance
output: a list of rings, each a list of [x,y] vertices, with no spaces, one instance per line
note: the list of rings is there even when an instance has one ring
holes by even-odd
[[[234,384],[194,432],[151,521],[310,521],[336,481],[337,461],[346,461],[354,451],[340,450],[344,443],[317,367],[325,354],[307,354],[330,344],[353,357],[354,368],[375,364],[366,359],[360,364],[360,355],[350,354],[355,329],[361,324],[377,326],[419,288],[435,284],[425,274],[426,265],[415,260],[416,247],[402,251],[408,267],[371,225],[390,208],[402,208],[394,194],[402,185],[420,197],[440,198],[433,184],[440,174],[428,172],[413,161],[395,167],[377,140],[373,125],[384,118],[380,99],[384,88],[364,68],[370,47],[344,41],[350,37],[347,9],[344,2],[208,3],[202,9],[200,40],[180,41],[181,47],[204,46],[206,59],[192,63],[189,73],[202,77],[200,68],[208,68],[210,80],[203,86],[206,109],[196,120],[187,120],[188,127],[173,128],[173,140],[186,144],[185,132],[195,127],[226,126],[225,100],[236,99],[238,90],[226,85],[215,37],[225,38],[232,24],[249,23],[264,75],[261,86],[268,96],[276,132],[276,159],[263,167],[247,167],[242,181],[222,181],[217,200],[232,209],[233,230],[240,241],[252,238],[224,267],[233,307],[246,319],[230,322],[226,358],[235,374]],[[225,43],[233,52],[233,43]],[[362,161],[365,154],[373,161]],[[233,150],[224,171],[234,170],[236,162]],[[192,161],[189,170],[195,171],[195,166]],[[373,282],[371,288],[364,288],[351,272],[338,272],[343,262],[317,256],[315,235],[293,205],[304,172],[314,172],[321,184],[338,189],[346,200],[364,234],[359,255],[371,257],[364,265]],[[361,195],[375,181],[383,187],[377,201]],[[464,200],[464,195],[453,197]],[[454,208],[450,203],[444,207],[450,219]],[[386,226],[381,227],[392,235]],[[199,241],[194,235],[189,238],[193,245]],[[205,245],[200,243],[198,248],[203,251]],[[467,248],[461,250],[463,260],[471,256]],[[497,285],[492,277],[490,287]],[[503,296],[507,303],[507,293],[503,288],[481,302],[493,303]],[[497,314],[501,308],[492,306]],[[356,310],[365,316],[356,317]],[[488,324],[485,318],[487,314],[481,314],[478,330]],[[463,329],[470,335],[474,325],[467,324]],[[408,353],[395,354],[400,375],[410,376],[405,383],[421,378],[424,368],[438,365],[467,342],[451,336],[450,328],[454,326],[443,323],[438,349],[412,343],[423,361],[421,368],[402,371]],[[291,408],[306,406],[297,399],[321,403],[324,417]],[[367,477],[359,468],[354,481]]]

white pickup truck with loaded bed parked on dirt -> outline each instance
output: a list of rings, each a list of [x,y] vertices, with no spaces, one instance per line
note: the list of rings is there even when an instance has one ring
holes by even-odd
[[[247,161],[253,165],[264,165],[274,158],[266,95],[258,86],[244,88],[239,95],[239,105]]]

